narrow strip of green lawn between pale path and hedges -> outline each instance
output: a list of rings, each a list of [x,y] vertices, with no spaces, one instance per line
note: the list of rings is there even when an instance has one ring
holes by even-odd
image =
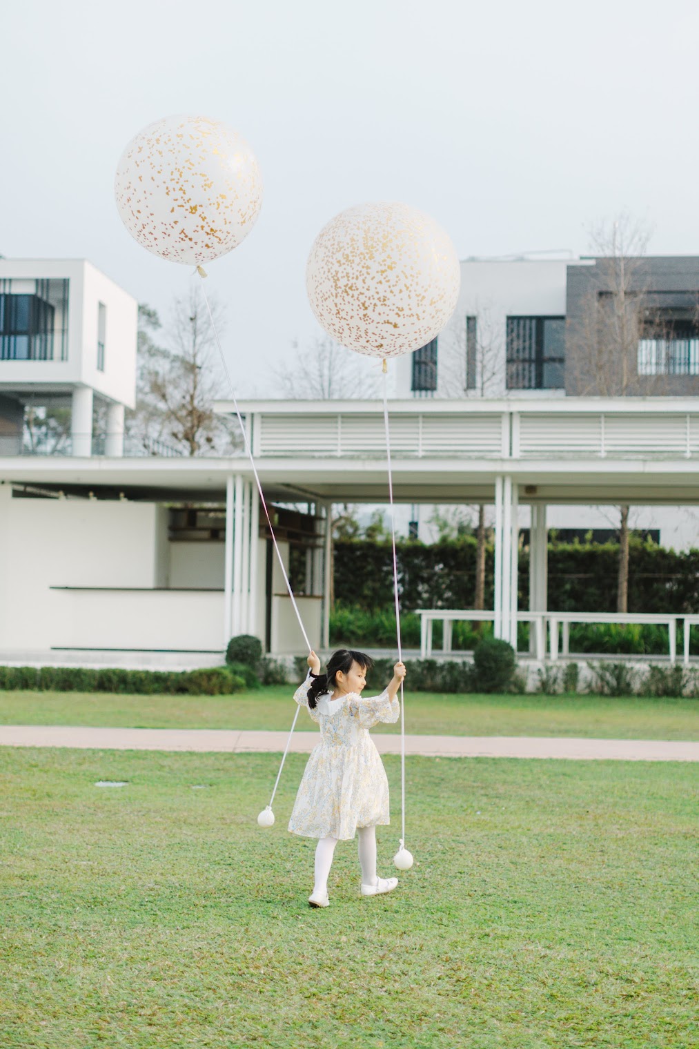
[[[296,709],[292,695],[291,686],[233,697],[0,692],[0,724],[288,729]],[[315,729],[304,713],[297,726]],[[405,728],[411,733],[449,735],[699,740],[699,701],[408,692]],[[376,731],[398,732],[399,726]]]

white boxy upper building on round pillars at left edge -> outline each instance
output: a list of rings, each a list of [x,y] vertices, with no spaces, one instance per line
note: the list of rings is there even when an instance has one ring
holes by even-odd
[[[69,410],[61,452],[121,455],[124,409],[135,398],[136,317],[135,300],[84,259],[0,258],[0,453],[46,450],[26,447],[33,407]]]

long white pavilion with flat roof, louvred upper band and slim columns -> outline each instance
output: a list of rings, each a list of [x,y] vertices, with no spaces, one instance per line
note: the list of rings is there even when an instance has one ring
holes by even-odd
[[[240,409],[268,501],[313,504],[324,509],[326,519],[333,502],[387,502],[380,402],[249,401]],[[231,413],[233,405],[219,402],[216,410]],[[516,640],[522,506],[531,507],[528,611],[548,613],[547,506],[699,502],[699,403],[693,399],[425,399],[394,401],[389,410],[397,501],[494,504],[495,634],[511,642]],[[251,630],[263,581],[251,558],[259,534],[258,500],[243,453],[221,458],[12,456],[0,459],[0,483],[94,491],[115,499],[123,493],[154,502],[225,502],[220,637]],[[329,545],[326,528],[319,639],[325,647]],[[190,597],[181,594],[177,600]],[[279,602],[279,615],[291,614]]]

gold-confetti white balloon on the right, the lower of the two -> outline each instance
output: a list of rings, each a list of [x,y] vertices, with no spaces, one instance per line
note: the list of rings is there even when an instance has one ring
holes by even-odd
[[[331,219],[305,269],[311,308],[325,331],[379,358],[430,342],[453,313],[460,283],[444,230],[416,208],[385,201]]]

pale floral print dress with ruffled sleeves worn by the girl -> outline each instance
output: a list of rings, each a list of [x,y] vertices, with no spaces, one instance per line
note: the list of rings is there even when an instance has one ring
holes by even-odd
[[[354,838],[358,827],[389,823],[388,780],[368,729],[398,721],[400,703],[388,692],[363,699],[350,692],[331,700],[330,692],[309,707],[311,678],[294,699],[320,726],[296,795],[289,830],[308,838]]]

